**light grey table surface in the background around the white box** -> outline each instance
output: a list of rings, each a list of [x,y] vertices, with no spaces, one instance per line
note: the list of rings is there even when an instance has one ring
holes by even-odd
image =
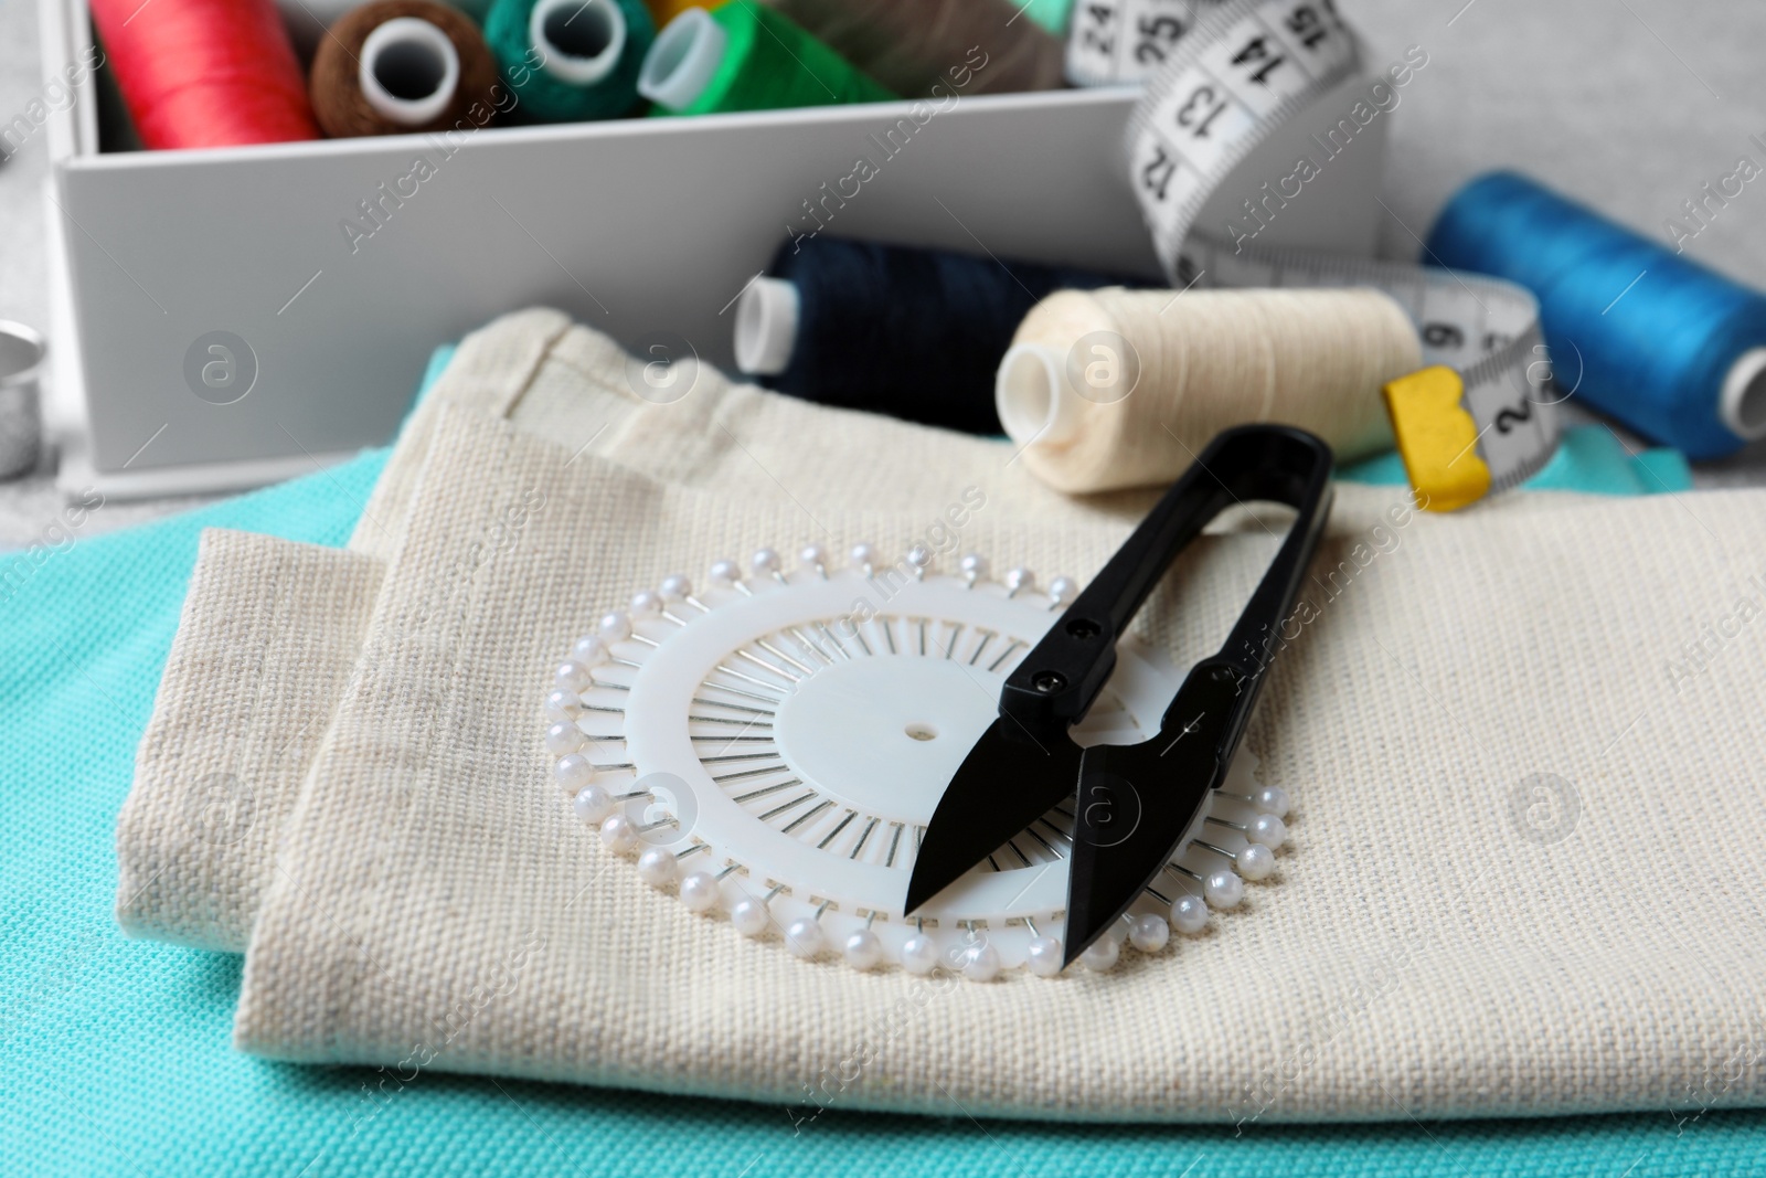
[[[1766,4],[1757,0],[1339,0],[1370,64],[1422,46],[1392,118],[1383,253],[1415,258],[1441,201],[1496,166],[1528,171],[1646,233],[1740,155],[1766,164]],[[37,0],[0,0],[0,120],[41,94]],[[42,138],[0,164],[0,318],[44,330]],[[1766,184],[1748,185],[1688,254],[1766,288]],[[53,341],[51,341],[53,346]],[[0,549],[60,512],[55,456],[0,484]],[[1766,443],[1701,464],[1699,486],[1766,484]],[[108,503],[88,532],[200,498]]]

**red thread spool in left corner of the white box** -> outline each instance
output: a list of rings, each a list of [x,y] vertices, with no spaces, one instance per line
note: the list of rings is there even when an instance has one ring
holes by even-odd
[[[274,0],[90,0],[141,143],[316,140],[300,64]]]

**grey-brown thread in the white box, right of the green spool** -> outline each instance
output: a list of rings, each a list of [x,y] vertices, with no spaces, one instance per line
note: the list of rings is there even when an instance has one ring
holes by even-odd
[[[895,94],[950,88],[973,69],[971,94],[1063,85],[1065,46],[1008,0],[766,0]],[[978,51],[984,67],[970,57]]]

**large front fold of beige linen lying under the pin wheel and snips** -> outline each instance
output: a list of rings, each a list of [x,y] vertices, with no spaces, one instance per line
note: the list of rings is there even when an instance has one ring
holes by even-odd
[[[996,512],[985,486],[962,546],[996,562],[1088,576],[1127,532]],[[1513,496],[1377,532],[1372,493],[1346,498],[1249,733],[1298,800],[1279,881],[1107,977],[929,984],[796,961],[641,885],[539,738],[547,664],[632,588],[758,544],[901,546],[925,519],[657,482],[443,406],[279,846],[237,1042],[795,1116],[1665,1107],[1761,1035],[1766,671],[1736,602],[1759,595],[1766,496]],[[519,540],[464,558],[517,505]],[[1273,547],[1201,540],[1150,638],[1210,650]],[[1748,1074],[1727,1099],[1759,1095]]]

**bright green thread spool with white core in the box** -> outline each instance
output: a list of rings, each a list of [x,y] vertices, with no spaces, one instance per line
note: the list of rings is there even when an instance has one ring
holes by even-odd
[[[772,9],[731,0],[689,9],[657,35],[638,92],[659,115],[765,111],[897,95]]]

